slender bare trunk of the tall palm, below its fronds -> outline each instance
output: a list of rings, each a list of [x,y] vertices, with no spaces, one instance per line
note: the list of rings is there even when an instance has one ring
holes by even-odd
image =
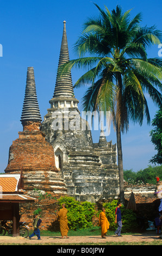
[[[116,125],[116,141],[117,141],[117,159],[118,159],[118,168],[119,168],[120,202],[124,205],[123,155],[122,155],[122,143],[121,143],[121,130],[119,125]]]

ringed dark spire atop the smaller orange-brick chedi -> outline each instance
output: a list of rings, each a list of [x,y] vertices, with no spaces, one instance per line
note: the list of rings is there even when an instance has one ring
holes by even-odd
[[[21,123],[34,121],[41,122],[41,115],[38,105],[38,100],[36,96],[35,78],[34,78],[34,68],[29,67],[27,70],[27,82],[26,82],[26,92],[24,96]]]

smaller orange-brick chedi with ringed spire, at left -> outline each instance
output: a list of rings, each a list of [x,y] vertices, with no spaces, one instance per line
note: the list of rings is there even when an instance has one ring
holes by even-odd
[[[23,132],[18,132],[9,149],[8,166],[5,173],[20,173],[24,176],[24,190],[35,196],[34,188],[42,194],[52,196],[66,194],[66,187],[55,167],[54,151],[40,131],[41,115],[36,96],[33,67],[27,70],[26,92],[24,96],[21,123]]]

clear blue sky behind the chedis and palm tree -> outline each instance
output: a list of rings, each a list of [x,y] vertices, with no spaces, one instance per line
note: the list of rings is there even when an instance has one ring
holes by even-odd
[[[162,31],[161,2],[154,1],[94,1],[99,7],[109,10],[119,4],[123,11],[132,9],[131,16],[143,14],[141,26],[154,24]],[[36,90],[41,117],[47,114],[49,100],[53,96],[57,75],[63,21],[66,21],[68,50],[70,59],[77,58],[73,45],[82,31],[87,17],[98,15],[98,10],[89,0],[0,0],[0,44],[3,57],[0,57],[1,83],[1,125],[0,125],[0,172],[8,163],[9,147],[22,131],[20,122],[26,74],[28,66],[34,66]],[[148,57],[158,57],[158,46],[148,51]],[[72,70],[73,84],[82,71]],[[81,102],[85,89],[74,89],[76,98]],[[151,118],[158,110],[149,101]],[[79,103],[79,110],[80,108]],[[148,166],[155,154],[149,137],[152,126],[142,127],[130,123],[127,134],[122,135],[123,167],[138,171]],[[92,131],[94,143],[98,142],[99,132]],[[107,141],[116,143],[116,135],[111,127]]]

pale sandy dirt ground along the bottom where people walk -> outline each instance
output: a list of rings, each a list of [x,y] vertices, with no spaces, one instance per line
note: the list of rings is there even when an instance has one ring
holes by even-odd
[[[42,236],[41,240],[38,240],[36,236],[29,238],[23,237],[10,237],[10,236],[0,236],[0,245],[10,245],[10,244],[26,244],[26,245],[41,245],[45,243],[52,243],[55,245],[72,245],[74,243],[104,243],[104,242],[152,242],[159,241],[159,244],[162,245],[162,239],[159,239],[159,235],[154,233],[144,233],[144,234],[132,234],[132,235],[123,235],[116,237],[115,235],[107,236],[105,239],[102,239],[101,236],[70,236],[69,239],[61,239],[59,236]]]

